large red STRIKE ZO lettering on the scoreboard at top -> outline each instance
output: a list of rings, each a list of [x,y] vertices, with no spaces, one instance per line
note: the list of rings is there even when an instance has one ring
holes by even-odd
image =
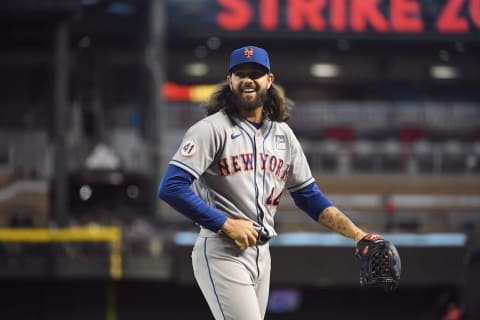
[[[217,0],[217,3],[220,11],[216,23],[229,31],[250,26],[258,26],[262,31],[278,31],[282,26],[283,31],[293,32],[422,33],[426,29],[421,0]],[[439,33],[467,33],[472,27],[480,27],[480,0],[445,0],[432,27]]]

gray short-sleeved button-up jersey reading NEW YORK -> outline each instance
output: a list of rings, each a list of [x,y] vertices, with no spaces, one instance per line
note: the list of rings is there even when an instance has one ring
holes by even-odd
[[[197,194],[232,218],[276,235],[274,216],[284,189],[314,181],[303,150],[285,122],[250,122],[220,111],[193,125],[170,164],[198,181]]]

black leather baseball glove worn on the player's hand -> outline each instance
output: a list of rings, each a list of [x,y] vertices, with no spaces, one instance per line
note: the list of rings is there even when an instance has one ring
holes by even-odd
[[[378,234],[367,234],[356,246],[360,260],[360,286],[395,290],[400,281],[402,264],[397,248]]]

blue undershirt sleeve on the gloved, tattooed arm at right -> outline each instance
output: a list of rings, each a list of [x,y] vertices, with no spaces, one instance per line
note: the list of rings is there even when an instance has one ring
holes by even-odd
[[[315,221],[318,221],[318,217],[323,210],[333,206],[333,203],[318,189],[315,182],[301,190],[292,192],[291,195],[295,205]]]

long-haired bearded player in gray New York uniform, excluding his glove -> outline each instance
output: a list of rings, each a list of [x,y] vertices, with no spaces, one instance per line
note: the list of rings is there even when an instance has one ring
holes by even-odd
[[[201,227],[193,271],[215,319],[260,320],[270,285],[268,241],[277,234],[275,212],[285,191],[327,228],[356,243],[366,233],[317,187],[286,123],[289,101],[274,84],[264,49],[234,50],[226,82],[205,108],[208,115],[186,132],[158,196]]]

